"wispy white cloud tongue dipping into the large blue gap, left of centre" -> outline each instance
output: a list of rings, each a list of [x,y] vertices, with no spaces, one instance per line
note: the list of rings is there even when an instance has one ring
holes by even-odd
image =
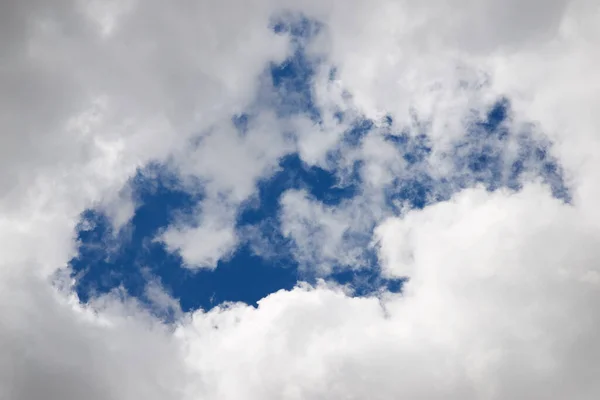
[[[279,159],[295,147],[284,133],[265,112],[249,123],[247,132],[223,125],[176,158],[184,181],[192,177],[202,182],[204,199],[191,220],[178,221],[160,240],[178,251],[187,267],[215,268],[235,250],[238,209],[256,194],[258,180],[271,176]]]

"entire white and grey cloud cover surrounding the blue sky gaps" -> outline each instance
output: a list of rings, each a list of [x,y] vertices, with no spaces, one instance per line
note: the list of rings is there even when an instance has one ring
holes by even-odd
[[[311,51],[337,67],[335,83],[314,82],[322,138],[306,121],[263,113],[245,136],[230,126],[263,68],[287,54],[286,38],[267,29],[286,4],[110,4],[0,6],[0,397],[598,398],[595,2],[287,4],[323,22]],[[330,168],[325,155],[348,126],[328,114],[389,113],[409,130],[416,115],[439,172],[436,157],[465,118],[500,95],[511,129],[532,123],[553,141],[571,204],[529,182],[392,217],[381,191],[406,171],[378,129],[340,160],[365,163],[360,200],[282,199],[284,230],[313,264],[354,259],[344,233],[377,224],[384,272],[410,278],[402,295],[301,287],[173,327],[118,294],[84,307],[68,282],[48,280],[74,253],[81,211],[102,204],[117,225],[131,215],[123,186],[148,161],[170,159],[205,183],[198,215],[163,238],[190,265],[213,266],[238,240],[239,206],[279,157],[300,149]],[[282,134],[290,126],[293,143]],[[147,291],[177,311],[160,285]]]

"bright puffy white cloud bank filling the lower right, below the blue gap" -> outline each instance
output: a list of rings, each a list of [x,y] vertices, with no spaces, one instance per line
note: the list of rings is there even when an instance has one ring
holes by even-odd
[[[540,185],[473,189],[378,235],[401,295],[321,286],[196,313],[182,331],[207,398],[597,396],[600,231],[580,210]]]

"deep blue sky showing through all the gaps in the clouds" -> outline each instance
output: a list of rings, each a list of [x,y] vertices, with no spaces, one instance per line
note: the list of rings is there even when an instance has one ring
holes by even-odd
[[[311,86],[318,60],[311,60],[304,50],[318,31],[318,24],[301,19],[291,24],[276,23],[273,29],[278,34],[290,35],[294,50],[290,58],[273,64],[265,72],[270,78],[265,85],[275,89],[275,99],[270,101],[282,116],[306,114],[319,123]],[[263,100],[259,97],[257,101],[260,105]],[[398,201],[407,202],[412,208],[423,208],[447,200],[461,188],[477,184],[483,184],[490,191],[500,188],[518,191],[526,164],[532,165],[528,169],[548,183],[555,196],[569,201],[560,167],[549,155],[551,144],[532,138],[528,132],[510,132],[503,125],[509,113],[509,101],[500,99],[487,115],[476,116],[464,139],[455,143],[448,154],[455,166],[452,175],[432,177],[426,172],[417,172],[409,179],[396,179],[386,188],[390,209],[395,209]],[[240,135],[245,134],[252,118],[251,113],[233,117]],[[392,118],[386,118],[391,128],[386,140],[397,147],[408,170],[418,170],[428,162],[430,139],[426,134],[413,136],[394,131]],[[345,133],[344,143],[358,146],[373,126],[368,119],[358,119]],[[516,137],[518,143],[516,157],[506,154],[510,137]],[[329,155],[334,166],[336,157],[339,154],[335,151]],[[360,164],[355,168],[360,168]],[[348,284],[357,296],[380,290],[400,291],[403,279],[381,276],[373,250],[367,249],[369,236],[357,239],[357,245],[364,246],[367,253],[359,269],[345,270],[344,265],[340,265],[324,276],[299,268],[293,256],[293,244],[282,235],[280,200],[286,190],[304,189],[316,201],[336,206],[361,195],[360,180],[360,175],[354,173],[350,181],[341,182],[335,168],[308,166],[297,153],[282,157],[277,172],[260,180],[257,193],[237,213],[236,229],[249,232],[249,236],[232,254],[220,260],[215,269],[190,270],[184,267],[177,252],[168,251],[164,243],[155,239],[176,216],[191,216],[193,208],[202,202],[202,195],[186,192],[180,178],[167,166],[148,165],[138,170],[128,184],[138,206],[131,222],[121,231],[114,232],[101,211],[90,209],[82,214],[78,255],[70,261],[77,282],[76,292],[85,302],[124,289],[147,303],[147,285],[159,282],[187,312],[198,308],[208,310],[223,302],[256,305],[258,300],[280,289],[290,290],[300,281],[315,283],[319,278]],[[253,236],[257,234],[267,241],[268,254],[254,251]]]

